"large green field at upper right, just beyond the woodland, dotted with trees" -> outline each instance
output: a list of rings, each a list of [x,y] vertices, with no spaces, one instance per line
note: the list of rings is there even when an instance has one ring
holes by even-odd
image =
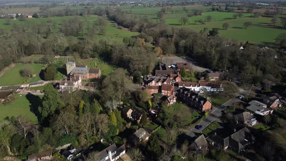
[[[220,35],[226,39],[233,39],[238,42],[248,41],[249,43],[265,46],[272,45],[279,34],[286,32],[281,23],[277,23],[274,27],[271,24],[271,17],[250,17],[252,14],[243,14],[243,17],[234,19],[233,14],[228,12],[206,12],[202,16],[189,17],[189,22],[184,26],[179,26],[179,18],[165,19],[165,22],[172,26],[190,28],[194,31],[202,31],[204,28],[208,30],[218,28]],[[197,22],[199,19],[205,19],[208,15],[212,16],[210,22],[206,22],[206,24]],[[248,21],[252,22],[253,25],[244,29],[243,24]],[[229,24],[227,30],[222,29],[223,23]]]

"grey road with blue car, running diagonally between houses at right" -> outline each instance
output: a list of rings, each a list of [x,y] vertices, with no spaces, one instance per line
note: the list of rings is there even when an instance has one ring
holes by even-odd
[[[196,137],[196,135],[198,135],[205,128],[207,128],[207,126],[211,124],[213,121],[218,121],[219,117],[222,116],[222,111],[226,110],[228,106],[232,106],[234,102],[238,102],[238,101],[240,101],[238,98],[232,98],[226,101],[222,106],[214,107],[212,112],[209,115],[207,115],[207,117],[201,123],[199,123],[199,125],[203,126],[202,129],[193,128],[186,134],[189,135],[190,137]]]

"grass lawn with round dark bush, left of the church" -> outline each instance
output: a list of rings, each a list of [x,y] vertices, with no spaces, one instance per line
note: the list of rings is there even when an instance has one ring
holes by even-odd
[[[31,79],[27,77],[22,77],[20,75],[20,70],[22,70],[24,67],[31,67],[33,70],[33,74],[35,74],[35,77],[32,77]],[[0,77],[0,86],[23,84],[24,81],[40,81],[41,79],[39,77],[39,72],[42,67],[43,64],[15,64],[14,67],[5,71],[5,73]]]

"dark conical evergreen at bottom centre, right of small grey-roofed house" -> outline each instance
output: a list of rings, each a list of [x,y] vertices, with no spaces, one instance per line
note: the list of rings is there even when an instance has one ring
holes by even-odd
[[[161,155],[161,147],[159,144],[159,138],[156,134],[152,134],[147,143],[147,150],[150,153],[150,156],[154,157],[155,159],[159,159]]]

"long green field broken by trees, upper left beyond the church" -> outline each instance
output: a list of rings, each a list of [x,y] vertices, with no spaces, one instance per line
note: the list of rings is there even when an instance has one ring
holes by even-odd
[[[33,23],[41,23],[41,22],[47,22],[52,21],[50,25],[55,22],[56,26],[51,27],[51,31],[55,33],[62,33],[61,30],[61,23],[63,20],[67,20],[70,18],[73,18],[74,16],[55,16],[55,17],[42,17],[42,18],[26,18],[25,21],[19,21],[19,20],[11,20],[10,25],[5,25],[6,20],[5,19],[0,19],[0,28],[4,30],[10,30],[11,27],[13,26],[14,23],[16,24],[23,24],[24,26],[31,26]],[[80,20],[83,22],[83,34],[85,35],[87,32],[87,27],[89,24],[90,27],[94,24],[96,21],[97,16],[79,16]],[[113,21],[110,21],[108,27],[106,27],[106,34],[105,35],[96,35],[95,38],[102,39],[102,38],[108,38],[111,41],[122,41],[124,37],[130,37],[130,36],[135,36],[139,35],[138,32],[130,32],[127,30],[123,29],[118,29],[116,28],[116,25],[114,24]],[[82,37],[83,35],[79,36]]]

